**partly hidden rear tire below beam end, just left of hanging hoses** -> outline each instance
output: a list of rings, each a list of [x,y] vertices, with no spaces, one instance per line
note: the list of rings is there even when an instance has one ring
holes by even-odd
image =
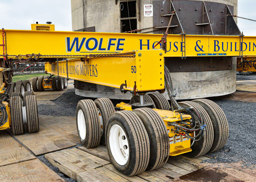
[[[152,92],[152,93],[149,93],[148,95],[154,101],[156,109],[161,109],[161,110],[169,110],[170,109],[169,101],[162,94],[160,94],[158,92]]]

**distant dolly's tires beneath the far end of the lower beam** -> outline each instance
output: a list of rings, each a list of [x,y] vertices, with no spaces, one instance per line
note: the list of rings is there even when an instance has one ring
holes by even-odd
[[[35,76],[32,80],[32,88],[34,92],[42,92],[45,90],[43,86],[43,80],[47,79],[49,76]],[[68,87],[68,80],[67,78],[61,76],[55,76],[50,78],[51,79],[51,88],[53,91],[61,91]]]

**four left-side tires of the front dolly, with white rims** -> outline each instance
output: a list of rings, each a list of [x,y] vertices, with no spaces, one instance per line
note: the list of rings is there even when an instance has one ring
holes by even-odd
[[[126,176],[155,170],[168,160],[168,132],[153,109],[115,112],[108,98],[80,100],[76,121],[82,145],[92,148],[105,144],[111,163]]]

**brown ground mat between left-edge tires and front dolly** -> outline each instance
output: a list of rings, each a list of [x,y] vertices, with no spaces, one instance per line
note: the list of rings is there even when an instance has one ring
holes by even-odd
[[[15,137],[34,154],[40,155],[68,148],[80,143],[77,135],[76,117],[39,116],[38,133],[25,133]]]

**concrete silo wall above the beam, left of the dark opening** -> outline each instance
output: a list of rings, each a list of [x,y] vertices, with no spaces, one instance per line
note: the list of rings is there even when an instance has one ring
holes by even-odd
[[[72,30],[95,26],[95,32],[120,32],[120,9],[113,0],[71,0]]]

